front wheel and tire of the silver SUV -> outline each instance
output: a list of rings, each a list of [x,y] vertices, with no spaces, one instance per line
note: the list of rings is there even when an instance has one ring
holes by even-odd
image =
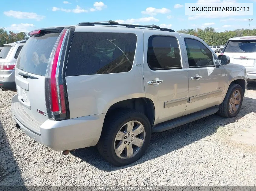
[[[219,106],[218,115],[228,118],[236,116],[241,108],[243,97],[242,87],[238,84],[230,84],[227,94]]]

